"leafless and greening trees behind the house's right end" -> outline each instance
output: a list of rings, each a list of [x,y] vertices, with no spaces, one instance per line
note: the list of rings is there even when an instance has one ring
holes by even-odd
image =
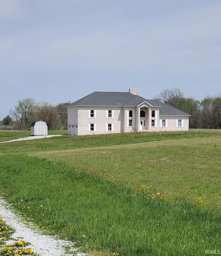
[[[154,99],[191,115],[189,128],[221,129],[221,92],[199,101],[193,97],[185,98],[179,88],[174,88],[161,91]]]

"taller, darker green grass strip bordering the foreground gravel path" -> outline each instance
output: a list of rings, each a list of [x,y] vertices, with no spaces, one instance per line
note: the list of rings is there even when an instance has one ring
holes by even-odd
[[[2,193],[25,218],[85,250],[203,255],[220,245],[221,216],[134,193],[88,172],[28,155],[1,155]]]

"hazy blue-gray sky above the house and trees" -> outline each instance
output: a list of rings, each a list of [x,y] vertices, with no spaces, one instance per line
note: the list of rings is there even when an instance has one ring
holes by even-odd
[[[18,99],[221,91],[220,0],[0,0],[0,120]]]

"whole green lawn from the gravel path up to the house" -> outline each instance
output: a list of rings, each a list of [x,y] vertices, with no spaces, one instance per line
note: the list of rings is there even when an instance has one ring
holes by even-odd
[[[3,143],[0,190],[94,255],[204,255],[221,249],[220,155],[220,130]]]

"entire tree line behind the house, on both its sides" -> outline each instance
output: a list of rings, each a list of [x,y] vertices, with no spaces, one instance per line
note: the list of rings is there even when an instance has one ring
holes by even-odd
[[[193,97],[185,98],[179,88],[174,88],[161,91],[154,99],[191,115],[190,128],[221,129],[221,92],[199,101]],[[36,103],[33,98],[23,98],[18,100],[14,109],[9,110],[10,115],[3,118],[2,124],[13,124],[13,129],[30,129],[32,121],[42,120],[47,123],[49,130],[66,130],[68,104],[52,106],[48,102]]]

